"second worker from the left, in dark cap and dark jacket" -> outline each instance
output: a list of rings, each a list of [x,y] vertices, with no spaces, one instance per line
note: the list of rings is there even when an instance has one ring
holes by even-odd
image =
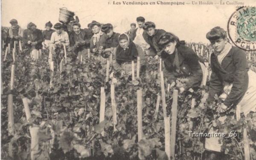
[[[27,25],[27,29],[23,32],[23,43],[34,52],[35,50],[38,51],[39,49],[42,49],[43,40],[44,38],[41,30],[37,29],[36,25],[30,22]]]

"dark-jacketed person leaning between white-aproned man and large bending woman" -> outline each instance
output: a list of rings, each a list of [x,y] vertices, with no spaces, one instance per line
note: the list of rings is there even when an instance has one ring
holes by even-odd
[[[160,36],[163,35],[166,31],[163,29],[155,29],[156,25],[153,22],[146,22],[143,25],[143,29],[147,33],[147,39],[148,43],[150,45],[151,54],[157,55],[157,52],[160,51],[160,47],[157,44],[157,41],[159,40]]]

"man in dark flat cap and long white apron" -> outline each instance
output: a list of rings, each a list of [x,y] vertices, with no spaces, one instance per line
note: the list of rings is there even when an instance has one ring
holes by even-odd
[[[143,24],[145,23],[144,17],[137,17],[136,19],[138,23],[138,28],[133,31],[131,34],[131,40],[138,46],[140,46],[143,49],[143,52],[146,55],[154,56],[154,52],[151,51],[150,45],[148,42],[148,35],[143,29]]]

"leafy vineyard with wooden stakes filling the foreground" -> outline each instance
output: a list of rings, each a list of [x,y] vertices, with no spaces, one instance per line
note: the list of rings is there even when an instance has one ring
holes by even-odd
[[[198,55],[209,63],[205,50]],[[225,123],[218,122],[220,100],[206,103],[209,77],[201,89],[180,94],[151,59],[145,60],[146,73],[120,77],[109,61],[102,64],[93,55],[80,60],[67,51],[65,58],[57,48],[49,62],[47,49],[38,59],[26,48],[8,52],[3,49],[1,61],[2,159],[201,160],[205,138],[189,131],[207,133],[210,127],[237,135],[219,139],[227,160],[243,160],[248,151],[256,159],[256,143],[247,132],[256,113],[238,119],[232,108]],[[248,53],[252,70],[255,56]]]

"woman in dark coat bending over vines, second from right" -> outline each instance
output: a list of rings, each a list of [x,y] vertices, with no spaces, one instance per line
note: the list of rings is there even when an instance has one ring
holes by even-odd
[[[183,44],[170,32],[160,36],[158,41],[162,49],[161,56],[165,65],[165,76],[171,87],[180,87],[180,93],[201,85],[203,71],[198,55]]]

